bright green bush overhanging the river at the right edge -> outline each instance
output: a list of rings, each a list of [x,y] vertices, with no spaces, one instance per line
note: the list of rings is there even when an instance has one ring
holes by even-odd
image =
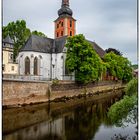
[[[124,98],[111,106],[108,112],[108,117],[111,119],[112,123],[121,126],[123,125],[123,119],[125,121],[130,121],[131,118],[133,118],[134,121],[137,120],[137,88],[138,80],[131,80],[125,89],[126,95]],[[128,116],[130,116],[130,118]]]

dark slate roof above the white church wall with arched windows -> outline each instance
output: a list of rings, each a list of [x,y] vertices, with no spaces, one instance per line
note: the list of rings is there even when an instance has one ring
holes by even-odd
[[[51,39],[47,37],[40,37],[31,35],[25,46],[20,49],[21,51],[35,51],[42,53],[60,53],[66,43],[67,36],[63,36],[57,39]]]

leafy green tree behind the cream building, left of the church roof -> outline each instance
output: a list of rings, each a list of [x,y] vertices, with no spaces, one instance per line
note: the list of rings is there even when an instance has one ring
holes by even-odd
[[[45,34],[33,31],[26,27],[25,20],[17,20],[16,22],[10,22],[7,26],[2,27],[2,37],[6,38],[8,35],[14,41],[14,60],[19,52],[19,49],[25,44],[31,34],[39,36],[45,36]]]

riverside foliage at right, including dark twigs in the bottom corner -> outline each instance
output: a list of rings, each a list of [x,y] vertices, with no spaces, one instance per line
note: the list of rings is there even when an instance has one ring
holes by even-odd
[[[133,137],[114,135],[111,140],[137,140],[138,136],[138,80],[131,80],[125,89],[126,95],[122,100],[111,106],[108,116],[116,126],[125,126],[124,122],[136,124]]]

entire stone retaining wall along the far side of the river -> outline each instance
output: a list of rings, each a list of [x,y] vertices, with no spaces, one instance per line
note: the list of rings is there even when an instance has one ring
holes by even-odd
[[[3,80],[2,105],[17,107],[43,102],[66,102],[70,99],[105,94],[108,91],[123,89],[121,82],[101,81],[87,86],[70,82],[52,84],[40,81]]]

